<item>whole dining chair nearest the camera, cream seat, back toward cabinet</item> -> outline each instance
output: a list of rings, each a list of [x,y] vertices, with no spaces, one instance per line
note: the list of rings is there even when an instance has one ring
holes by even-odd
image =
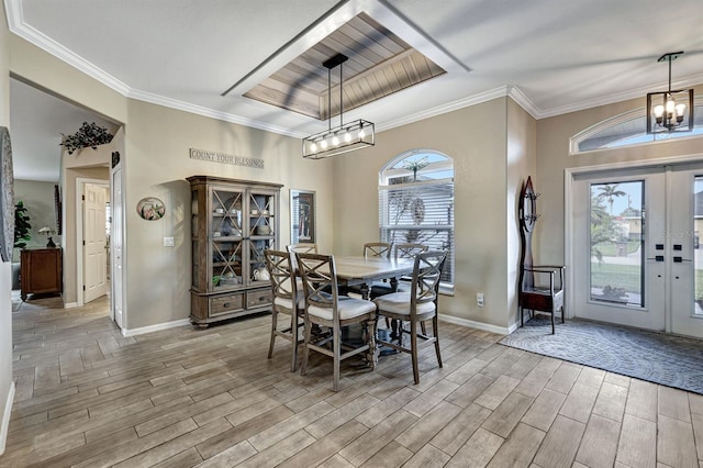
[[[339,387],[339,364],[342,360],[366,353],[373,367],[376,304],[364,299],[339,296],[337,275],[332,255],[297,254],[298,272],[303,280],[305,297],[303,359],[300,374],[305,375],[310,352],[314,350],[333,358],[333,390]],[[331,291],[331,292],[326,292]],[[362,324],[366,327],[366,343],[353,347],[342,343],[342,327]],[[314,336],[312,326],[330,327],[328,335]]]

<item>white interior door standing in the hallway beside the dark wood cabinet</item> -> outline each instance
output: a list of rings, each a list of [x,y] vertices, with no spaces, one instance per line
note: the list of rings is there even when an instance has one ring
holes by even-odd
[[[108,189],[86,183],[83,189],[83,303],[108,293],[105,202]]]

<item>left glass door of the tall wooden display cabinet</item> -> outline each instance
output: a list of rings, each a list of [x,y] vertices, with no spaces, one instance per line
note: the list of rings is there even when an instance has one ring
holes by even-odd
[[[243,191],[213,189],[210,233],[212,255],[211,290],[225,290],[243,285],[244,253]]]

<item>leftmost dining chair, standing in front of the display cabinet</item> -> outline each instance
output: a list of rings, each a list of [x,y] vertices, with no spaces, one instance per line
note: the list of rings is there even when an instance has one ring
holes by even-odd
[[[271,307],[271,341],[268,347],[268,358],[274,356],[276,337],[289,341],[292,345],[290,371],[298,369],[298,345],[301,341],[299,327],[303,325],[303,309],[305,299],[302,291],[302,281],[297,277],[289,252],[264,250],[266,268],[269,271],[274,304]],[[279,328],[278,315],[290,316],[290,324]]]

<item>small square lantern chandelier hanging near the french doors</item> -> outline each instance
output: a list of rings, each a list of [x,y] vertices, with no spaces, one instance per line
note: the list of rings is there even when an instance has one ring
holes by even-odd
[[[669,62],[669,90],[647,93],[647,133],[691,132],[693,89],[671,90],[671,62],[683,52],[663,54],[657,62]]]

